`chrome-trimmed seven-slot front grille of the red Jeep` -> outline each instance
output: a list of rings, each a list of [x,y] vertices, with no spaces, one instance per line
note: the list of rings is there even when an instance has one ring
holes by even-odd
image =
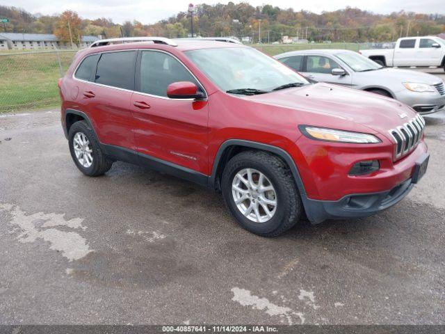
[[[394,148],[395,159],[404,157],[408,152],[417,147],[423,136],[424,127],[425,120],[423,120],[422,116],[417,115],[404,125],[389,130],[389,134],[391,134],[396,143]]]

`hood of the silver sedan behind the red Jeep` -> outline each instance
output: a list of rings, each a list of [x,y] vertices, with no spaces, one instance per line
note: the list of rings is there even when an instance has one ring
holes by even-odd
[[[440,84],[442,79],[435,77],[432,74],[417,72],[412,70],[401,70],[398,68],[382,68],[381,70],[356,72],[359,77],[375,78],[379,80],[398,81],[398,82],[416,82],[419,84],[435,85]]]

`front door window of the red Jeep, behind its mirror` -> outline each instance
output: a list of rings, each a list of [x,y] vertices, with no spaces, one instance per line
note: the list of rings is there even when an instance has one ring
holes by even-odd
[[[176,58],[159,51],[143,51],[140,57],[140,91],[167,96],[168,85],[177,81],[191,81],[202,93],[204,90],[193,75]]]

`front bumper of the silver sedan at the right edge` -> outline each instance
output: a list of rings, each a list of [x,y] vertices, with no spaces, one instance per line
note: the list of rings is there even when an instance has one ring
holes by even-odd
[[[396,100],[411,106],[421,115],[445,110],[445,95],[440,95],[438,92],[416,93],[403,90],[396,93]]]

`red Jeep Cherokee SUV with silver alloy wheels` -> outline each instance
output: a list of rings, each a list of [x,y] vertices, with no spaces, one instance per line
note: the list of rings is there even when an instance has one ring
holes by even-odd
[[[247,230],[275,236],[369,216],[425,173],[425,122],[387,97],[309,84],[261,52],[215,40],[99,40],[60,79],[82,173],[149,166],[223,193]],[[119,44],[117,44],[119,43]]]

